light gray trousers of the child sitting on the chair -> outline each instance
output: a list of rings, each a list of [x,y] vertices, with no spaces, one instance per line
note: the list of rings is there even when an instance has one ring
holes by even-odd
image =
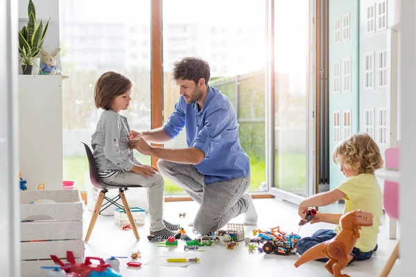
[[[125,185],[125,186],[142,186],[147,188],[149,215],[150,215],[150,231],[160,231],[164,229],[163,223],[163,203],[164,203],[164,179],[160,173],[156,173],[153,177],[145,177],[135,172],[123,172],[118,170],[112,177],[101,179],[108,185]]]

